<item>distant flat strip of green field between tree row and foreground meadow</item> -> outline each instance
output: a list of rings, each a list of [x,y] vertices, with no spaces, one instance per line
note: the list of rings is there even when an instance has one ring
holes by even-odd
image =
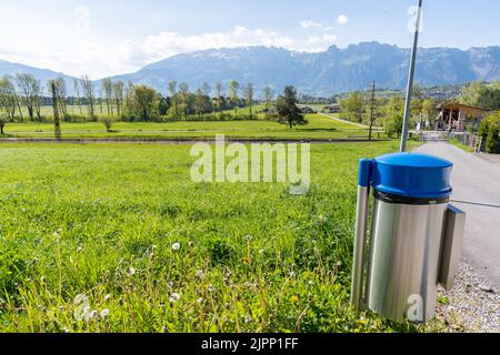
[[[211,139],[216,134],[226,134],[228,139],[363,139],[368,131],[356,125],[310,114],[309,124],[290,130],[284,124],[273,121],[226,121],[226,122],[117,122],[113,132],[107,132],[100,122],[66,123],[62,122],[62,138],[110,138],[136,140],[176,140],[176,139]],[[51,123],[8,123],[4,133],[12,138],[53,138]],[[377,136],[377,133],[376,133]],[[379,136],[383,136],[380,133]]]

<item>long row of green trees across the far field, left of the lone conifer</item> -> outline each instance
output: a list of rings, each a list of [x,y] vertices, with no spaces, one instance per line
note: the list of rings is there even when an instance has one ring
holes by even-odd
[[[71,97],[68,95],[67,81],[62,77],[57,78],[48,83],[50,94],[52,83],[56,84],[58,111],[62,120],[67,121],[96,121],[98,115],[130,121],[230,119],[224,112],[229,110],[233,110],[233,118],[253,119],[257,101],[253,84],[242,85],[236,80],[227,89],[221,82],[213,88],[203,83],[193,92],[187,83],[170,81],[166,88],[166,97],[147,85],[134,85],[131,82],[126,84],[111,79],[103,79],[98,84],[88,77],[73,79]],[[6,112],[9,121],[42,121],[44,118],[41,108],[52,105],[52,97],[44,97],[43,92],[40,80],[31,74],[0,79],[0,112]],[[264,88],[262,97],[266,108],[270,110],[274,99],[272,89]],[[69,105],[73,106],[71,112],[68,110]],[[249,108],[249,113],[244,115],[238,112],[243,106]],[[28,118],[24,112],[28,112]]]

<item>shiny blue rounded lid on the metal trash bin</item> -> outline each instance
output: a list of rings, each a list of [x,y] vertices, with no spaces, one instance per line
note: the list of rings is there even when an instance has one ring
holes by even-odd
[[[414,199],[446,199],[451,195],[453,163],[432,155],[397,153],[376,158],[371,184],[374,190]]]

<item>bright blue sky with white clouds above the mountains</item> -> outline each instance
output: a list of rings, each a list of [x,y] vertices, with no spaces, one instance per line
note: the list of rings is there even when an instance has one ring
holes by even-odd
[[[417,0],[0,0],[0,59],[92,78],[238,45],[410,47]],[[424,0],[422,47],[500,45],[500,1]]]

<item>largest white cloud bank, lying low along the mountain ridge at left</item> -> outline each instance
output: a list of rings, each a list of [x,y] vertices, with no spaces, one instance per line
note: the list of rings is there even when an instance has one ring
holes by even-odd
[[[47,43],[31,38],[14,38],[0,32],[0,59],[48,68],[74,77],[88,74],[92,79],[133,72],[141,67],[168,57],[212,48],[250,45],[280,47],[289,50],[317,52],[337,40],[333,34],[288,37],[266,29],[234,27],[228,31],[183,36],[160,32],[141,40],[124,40],[114,45],[90,40]],[[68,44],[70,43],[70,44]]]

